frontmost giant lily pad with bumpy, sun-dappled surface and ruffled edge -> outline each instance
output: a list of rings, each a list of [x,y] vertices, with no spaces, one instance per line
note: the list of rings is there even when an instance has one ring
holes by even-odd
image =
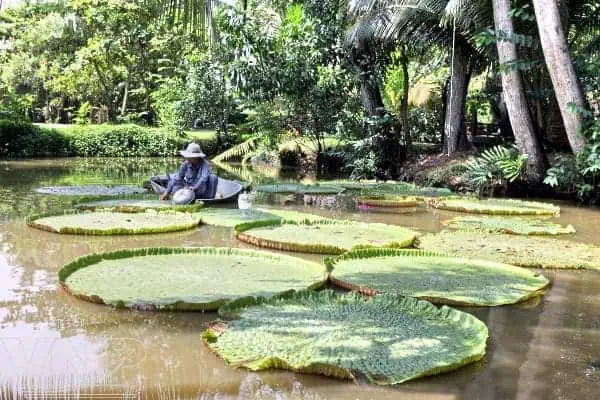
[[[203,338],[229,365],[282,368],[390,385],[481,359],[487,327],[411,297],[302,292],[226,305]],[[245,302],[248,304],[248,301]]]

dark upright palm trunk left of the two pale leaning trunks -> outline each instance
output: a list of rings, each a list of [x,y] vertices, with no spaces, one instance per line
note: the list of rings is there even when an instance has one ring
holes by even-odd
[[[461,136],[465,135],[465,106],[471,72],[468,50],[460,40],[456,41],[454,48],[454,66],[451,75],[452,82],[449,87],[450,92],[446,97],[448,104],[444,117],[444,135],[446,136],[444,151],[448,155],[465,150],[468,144],[466,136],[464,138]]]

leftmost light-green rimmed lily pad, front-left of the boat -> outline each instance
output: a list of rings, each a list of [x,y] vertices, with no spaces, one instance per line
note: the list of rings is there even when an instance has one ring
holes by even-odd
[[[192,229],[198,226],[197,214],[174,211],[123,213],[94,211],[33,216],[27,224],[54,233],[76,235],[136,235],[165,233]]]

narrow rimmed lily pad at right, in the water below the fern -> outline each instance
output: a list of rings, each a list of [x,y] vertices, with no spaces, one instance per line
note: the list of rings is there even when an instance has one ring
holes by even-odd
[[[440,210],[490,215],[559,215],[560,207],[537,201],[513,199],[440,199],[429,205]]]

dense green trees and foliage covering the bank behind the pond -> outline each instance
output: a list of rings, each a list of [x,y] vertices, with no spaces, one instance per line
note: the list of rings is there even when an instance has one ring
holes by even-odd
[[[3,154],[166,154],[175,135],[206,127],[217,133],[214,151],[246,143],[230,153],[243,163],[277,162],[282,152],[284,162],[390,178],[423,153],[502,143],[510,150],[484,152],[463,168],[465,187],[539,184],[550,166],[547,184],[598,197],[598,1],[557,3],[561,18],[553,21],[539,21],[529,1],[513,1],[512,32],[496,26],[496,1],[198,4],[67,0],[2,10],[0,118],[86,127],[66,142],[50,132],[11,133],[19,143]],[[562,26],[568,47],[550,53],[574,66],[573,76],[564,73],[568,104],[552,75],[560,63],[540,34],[549,23]],[[506,43],[517,57],[502,62]],[[511,73],[521,89],[503,87]],[[512,98],[524,99],[529,123],[511,115]],[[575,122],[567,124],[570,115]],[[128,126],[124,136],[100,137],[88,128],[106,122],[169,135]],[[134,144],[124,142],[132,136]]]

